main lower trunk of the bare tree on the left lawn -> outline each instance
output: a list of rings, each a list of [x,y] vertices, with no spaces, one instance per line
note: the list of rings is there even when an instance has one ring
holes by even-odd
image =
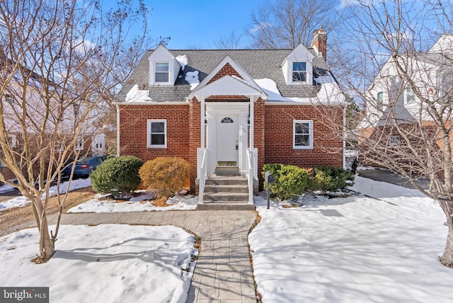
[[[47,213],[43,206],[41,199],[35,198],[35,201],[33,201],[33,212],[38,231],[40,232],[40,262],[48,261],[55,253],[55,241],[50,236]]]

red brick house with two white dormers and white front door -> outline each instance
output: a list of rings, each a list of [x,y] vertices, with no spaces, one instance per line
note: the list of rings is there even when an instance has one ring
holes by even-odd
[[[326,40],[320,28],[294,50],[148,50],[117,96],[118,154],[186,159],[201,203],[216,175],[242,176],[251,203],[264,164],[343,166]]]

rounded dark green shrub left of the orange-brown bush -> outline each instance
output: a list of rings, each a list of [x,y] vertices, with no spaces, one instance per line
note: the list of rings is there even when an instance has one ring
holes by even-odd
[[[135,156],[107,159],[90,175],[93,189],[98,193],[117,196],[130,193],[140,183],[139,168],[142,160]]]

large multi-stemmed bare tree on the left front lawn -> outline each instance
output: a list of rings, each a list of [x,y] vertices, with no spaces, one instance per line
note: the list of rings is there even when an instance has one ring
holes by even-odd
[[[80,138],[91,132],[98,105],[115,90],[143,51],[142,1],[119,1],[105,11],[99,1],[8,0],[0,3],[0,163],[32,203],[40,231],[40,256],[55,252],[65,195],[58,195],[55,231],[47,224],[52,181],[61,181],[69,159],[79,156]],[[143,32],[144,35],[144,32]]]

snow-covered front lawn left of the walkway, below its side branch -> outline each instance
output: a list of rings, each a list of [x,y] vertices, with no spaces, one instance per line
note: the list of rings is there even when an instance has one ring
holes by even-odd
[[[185,302],[197,255],[179,227],[62,225],[55,255],[38,252],[37,229],[0,238],[2,287],[50,287],[51,302]]]

